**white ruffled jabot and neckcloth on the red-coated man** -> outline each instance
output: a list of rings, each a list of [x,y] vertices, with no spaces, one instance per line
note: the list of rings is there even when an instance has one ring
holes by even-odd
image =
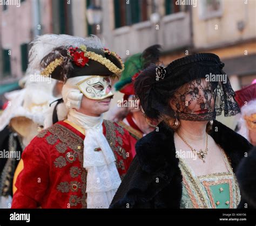
[[[83,166],[87,171],[87,208],[109,208],[121,180],[113,151],[103,135],[103,115],[92,117],[71,109],[68,120],[85,129]]]

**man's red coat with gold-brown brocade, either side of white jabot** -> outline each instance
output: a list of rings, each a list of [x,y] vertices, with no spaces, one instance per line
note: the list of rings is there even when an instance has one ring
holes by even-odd
[[[12,208],[86,208],[85,136],[71,125],[58,122],[40,132],[26,147]],[[132,161],[129,132],[104,121],[103,133],[122,179]]]

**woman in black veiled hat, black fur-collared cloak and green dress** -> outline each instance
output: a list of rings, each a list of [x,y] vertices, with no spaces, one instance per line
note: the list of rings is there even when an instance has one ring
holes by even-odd
[[[235,169],[251,144],[215,121],[240,110],[211,53],[149,66],[134,89],[145,116],[163,122],[137,142],[137,156],[111,208],[237,208]]]

